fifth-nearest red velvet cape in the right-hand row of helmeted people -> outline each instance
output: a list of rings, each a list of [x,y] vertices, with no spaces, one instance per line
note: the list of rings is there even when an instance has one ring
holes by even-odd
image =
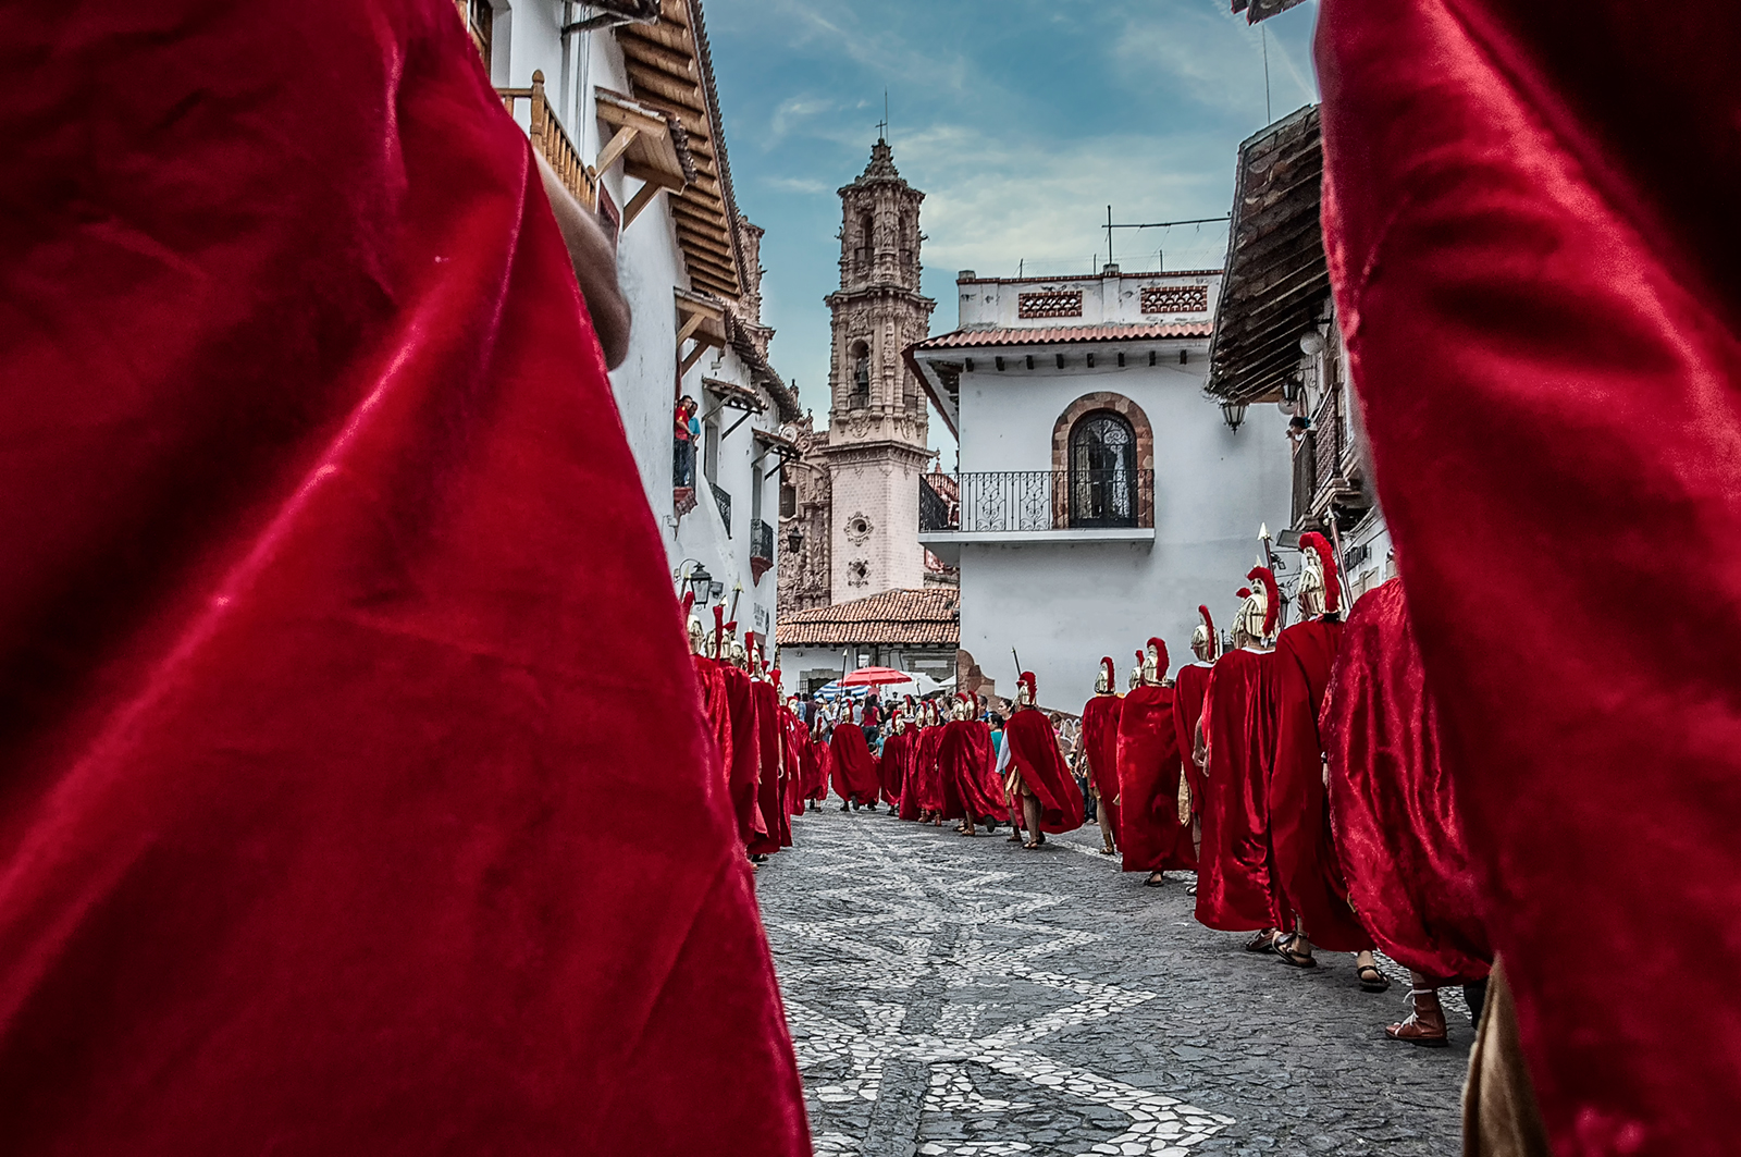
[[[1191,826],[1179,822],[1173,688],[1137,687],[1118,716],[1118,849],[1125,871],[1194,869]]]

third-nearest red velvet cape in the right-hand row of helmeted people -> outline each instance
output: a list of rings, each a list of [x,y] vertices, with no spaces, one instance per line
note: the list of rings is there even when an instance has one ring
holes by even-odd
[[[1269,760],[1276,714],[1274,652],[1215,660],[1203,699],[1208,800],[1196,918],[1224,932],[1285,927],[1269,854]]]

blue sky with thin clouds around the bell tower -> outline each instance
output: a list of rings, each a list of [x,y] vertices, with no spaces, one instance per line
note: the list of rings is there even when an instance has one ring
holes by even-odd
[[[1273,118],[1316,101],[1316,9],[1262,24]],[[864,171],[884,87],[895,164],[926,192],[933,333],[956,328],[956,270],[1099,268],[1107,204],[1119,221],[1227,213],[1238,145],[1266,124],[1264,42],[1226,0],[707,0],[707,31],[738,207],[768,230],[773,362],[818,416],[834,190]],[[1163,247],[1166,268],[1215,268],[1226,244],[1224,225],[1114,240],[1126,270]]]

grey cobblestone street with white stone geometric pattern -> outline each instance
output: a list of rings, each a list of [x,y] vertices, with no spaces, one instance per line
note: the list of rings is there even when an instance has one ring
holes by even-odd
[[[757,875],[818,1155],[1459,1152],[1461,1000],[1450,1049],[1393,1044],[1396,965],[1240,951],[1092,824],[1022,852],[837,809]]]

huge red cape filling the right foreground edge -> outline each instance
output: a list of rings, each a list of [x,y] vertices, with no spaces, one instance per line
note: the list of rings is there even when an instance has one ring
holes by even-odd
[[[1318,51],[1337,310],[1553,1148],[1732,1152],[1741,21],[1330,0]]]

